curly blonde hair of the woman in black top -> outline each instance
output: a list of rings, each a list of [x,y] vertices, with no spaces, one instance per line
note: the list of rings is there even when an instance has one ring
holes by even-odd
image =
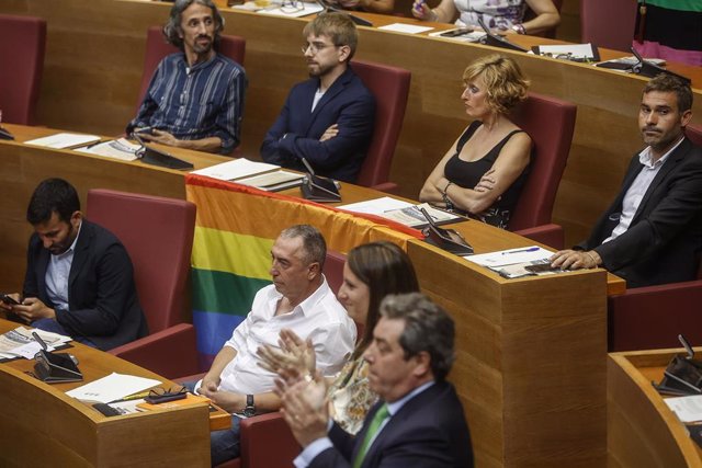
[[[487,103],[496,112],[507,114],[518,103],[526,99],[529,80],[519,65],[509,57],[492,54],[478,58],[463,71],[463,83],[483,76],[487,92]]]

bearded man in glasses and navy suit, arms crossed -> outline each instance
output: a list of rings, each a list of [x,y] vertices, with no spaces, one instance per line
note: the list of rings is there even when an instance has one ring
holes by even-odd
[[[373,136],[375,99],[349,60],[358,32],[344,13],[325,13],[307,23],[303,53],[309,80],[296,84],[265,135],[265,162],[354,182]]]

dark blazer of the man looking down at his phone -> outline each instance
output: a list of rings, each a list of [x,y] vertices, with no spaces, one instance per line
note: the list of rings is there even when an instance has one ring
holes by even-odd
[[[55,307],[46,293],[49,255],[38,236],[32,235],[23,295]],[[68,276],[68,311],[58,311],[56,320],[72,338],[84,336],[101,350],[148,333],[127,251],[112,232],[86,219]]]

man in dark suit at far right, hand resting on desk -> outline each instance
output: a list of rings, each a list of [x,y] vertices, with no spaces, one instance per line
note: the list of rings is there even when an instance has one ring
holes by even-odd
[[[563,269],[602,266],[639,287],[694,279],[702,249],[702,149],[684,136],[692,91],[659,75],[644,88],[638,126],[648,146],[629,165],[621,192]]]

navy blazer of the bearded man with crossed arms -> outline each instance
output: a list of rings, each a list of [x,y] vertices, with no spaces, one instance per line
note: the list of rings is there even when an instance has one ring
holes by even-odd
[[[355,182],[373,137],[375,98],[351,67],[329,87],[310,112],[319,79],[291,90],[278,119],[265,134],[261,157],[265,162],[306,172],[305,158],[317,175]],[[339,134],[327,141],[319,137],[331,125]]]

